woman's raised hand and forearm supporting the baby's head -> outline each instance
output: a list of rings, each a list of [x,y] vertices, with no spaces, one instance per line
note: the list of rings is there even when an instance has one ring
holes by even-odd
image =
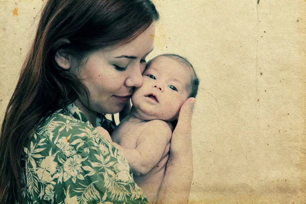
[[[191,119],[194,103],[195,98],[189,98],[180,110],[156,203],[188,203],[193,176]]]

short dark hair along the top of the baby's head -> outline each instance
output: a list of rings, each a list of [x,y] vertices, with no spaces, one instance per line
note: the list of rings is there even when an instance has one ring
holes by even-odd
[[[192,64],[191,64],[186,58],[184,58],[184,57],[182,57],[182,56],[179,56],[179,55],[176,55],[176,54],[162,54],[162,55],[159,55],[159,56],[157,56],[157,57],[151,59],[150,61],[148,61],[146,67],[148,67],[148,66],[150,65],[150,63],[151,63],[154,59],[156,59],[156,58],[158,58],[158,57],[162,57],[162,56],[171,58],[171,59],[173,59],[173,60],[176,60],[177,62],[179,62],[179,63],[181,63],[181,64],[187,66],[189,69],[190,69],[190,68],[192,69],[192,71],[193,71],[193,77],[192,77],[191,84],[190,84],[190,86],[191,86],[191,92],[190,92],[189,97],[195,97],[196,94],[197,94],[197,91],[198,91],[198,87],[199,87],[199,79],[198,79],[198,77],[197,77],[197,75],[196,75],[196,73],[195,73],[195,70],[194,70]]]

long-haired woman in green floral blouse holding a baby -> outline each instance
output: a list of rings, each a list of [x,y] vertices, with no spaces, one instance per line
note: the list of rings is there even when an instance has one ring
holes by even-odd
[[[158,18],[149,0],[46,3],[2,125],[0,203],[147,202],[95,127],[142,85]],[[181,109],[157,202],[188,200],[193,104]]]

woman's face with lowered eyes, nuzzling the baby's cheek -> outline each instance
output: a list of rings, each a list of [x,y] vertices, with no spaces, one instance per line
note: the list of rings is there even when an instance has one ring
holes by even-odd
[[[133,41],[98,50],[79,68],[71,67],[89,91],[89,104],[85,97],[75,101],[81,111],[90,117],[97,112],[113,114],[123,109],[134,87],[143,83],[145,58],[153,48],[154,35],[153,22]]]

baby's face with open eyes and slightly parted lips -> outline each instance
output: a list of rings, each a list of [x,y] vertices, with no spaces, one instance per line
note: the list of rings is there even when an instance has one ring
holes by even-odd
[[[150,120],[172,121],[190,94],[192,72],[175,60],[161,56],[142,74],[143,85],[135,89],[132,103]]]

